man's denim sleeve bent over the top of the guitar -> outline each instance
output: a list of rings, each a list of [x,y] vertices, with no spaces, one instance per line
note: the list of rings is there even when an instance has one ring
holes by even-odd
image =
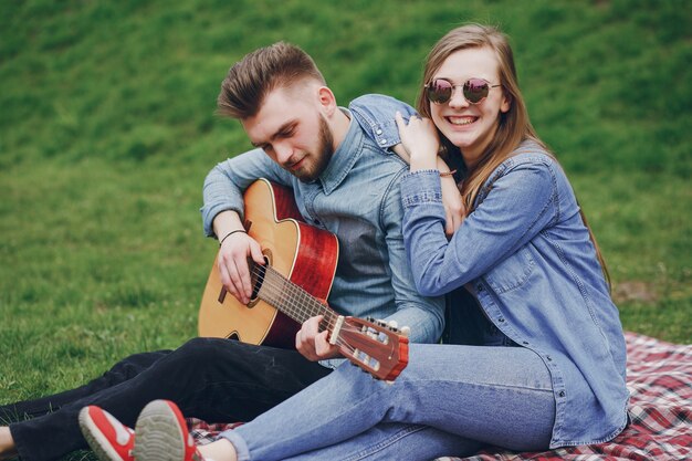
[[[221,211],[237,211],[243,218],[242,192],[254,180],[266,178],[291,186],[291,175],[270,159],[262,149],[253,149],[214,166],[205,179],[202,189],[202,223],[205,234],[213,237],[213,219]]]

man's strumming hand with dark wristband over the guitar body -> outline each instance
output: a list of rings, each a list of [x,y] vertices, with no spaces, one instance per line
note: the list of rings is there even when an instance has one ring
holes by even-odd
[[[258,264],[264,264],[262,249],[256,240],[244,232],[235,211],[217,214],[213,229],[221,242],[218,260],[221,283],[238,301],[248,304],[252,295],[248,258],[252,258]]]

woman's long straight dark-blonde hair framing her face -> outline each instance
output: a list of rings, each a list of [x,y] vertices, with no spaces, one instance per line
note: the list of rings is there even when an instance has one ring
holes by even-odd
[[[538,135],[531,124],[526,104],[524,103],[524,97],[518,87],[512,46],[510,45],[507,35],[497,28],[471,23],[448,32],[434,44],[430,53],[428,53],[423,69],[423,85],[432,80],[434,74],[452,53],[473,48],[487,48],[494,53],[497,60],[497,72],[500,74],[499,83],[502,85],[502,91],[510,102],[510,109],[506,113],[500,113],[497,130],[493,139],[485,147],[479,161],[472,168],[465,169],[465,176],[460,191],[466,209],[466,216],[473,211],[473,205],[483,184],[485,184],[490,175],[500,164],[512,155],[522,142],[533,140],[542,146],[548,155],[553,156],[545,143],[538,138]],[[421,115],[428,118],[432,118],[430,104],[431,103],[426,97],[424,91],[421,90],[417,99],[417,108]],[[459,161],[458,159],[461,158],[461,155],[453,156],[451,154],[460,154],[460,149],[452,145],[439,129],[438,134],[440,135],[442,156],[448,159],[448,161]],[[581,214],[584,226],[587,228],[589,238],[596,249],[596,256],[600,263],[604,276],[610,286],[610,274],[608,273],[606,262],[596,242],[596,237],[588,226],[586,216],[580,208],[579,213]]]

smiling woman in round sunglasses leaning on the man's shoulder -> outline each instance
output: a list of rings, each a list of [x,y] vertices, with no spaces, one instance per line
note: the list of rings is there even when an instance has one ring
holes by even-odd
[[[430,52],[423,82],[423,118],[396,117],[410,157],[405,241],[418,290],[451,293],[461,344],[411,345],[391,385],[342,366],[198,449],[186,448],[175,405],[151,402],[137,423],[136,459],[429,460],[485,446],[599,443],[622,430],[625,340],[605,265],[531,126],[506,36],[476,24],[452,30]],[[377,111],[377,96],[352,108]],[[460,160],[466,207],[450,240],[440,145]]]

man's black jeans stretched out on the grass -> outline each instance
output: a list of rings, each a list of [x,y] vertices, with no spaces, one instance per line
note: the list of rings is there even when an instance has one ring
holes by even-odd
[[[87,448],[77,421],[87,405],[129,427],[155,399],[172,400],[186,417],[209,422],[249,421],[329,371],[295,350],[195,338],[176,350],[129,356],[76,389],[0,407],[0,418],[33,417],[10,425],[20,458],[54,460]]]

